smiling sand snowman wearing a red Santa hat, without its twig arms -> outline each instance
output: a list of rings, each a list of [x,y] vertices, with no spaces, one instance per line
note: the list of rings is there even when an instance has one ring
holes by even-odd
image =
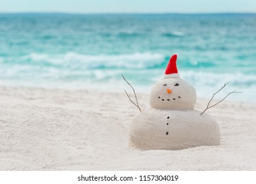
[[[170,58],[165,77],[151,89],[151,108],[143,110],[130,124],[130,145],[138,149],[178,150],[220,145],[220,129],[208,114],[193,110],[195,89],[180,78],[178,55]]]

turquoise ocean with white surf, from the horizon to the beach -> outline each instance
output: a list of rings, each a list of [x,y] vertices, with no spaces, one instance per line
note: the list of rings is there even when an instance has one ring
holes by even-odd
[[[0,85],[147,93],[173,53],[199,97],[256,102],[256,14],[0,14]]]

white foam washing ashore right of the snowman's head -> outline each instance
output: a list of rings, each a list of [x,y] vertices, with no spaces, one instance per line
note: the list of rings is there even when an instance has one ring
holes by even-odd
[[[199,97],[211,97],[224,83],[230,82],[220,91],[217,95],[217,99],[224,97],[231,91],[240,91],[242,93],[236,94],[234,97],[230,97],[230,99],[256,102],[254,97],[254,91],[256,91],[256,76],[254,75],[184,71],[181,77],[192,83],[195,89],[197,89],[197,95]]]

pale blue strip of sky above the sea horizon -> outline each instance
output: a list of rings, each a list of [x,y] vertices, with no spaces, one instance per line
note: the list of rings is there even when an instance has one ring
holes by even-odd
[[[256,0],[0,0],[0,12],[256,12]]]

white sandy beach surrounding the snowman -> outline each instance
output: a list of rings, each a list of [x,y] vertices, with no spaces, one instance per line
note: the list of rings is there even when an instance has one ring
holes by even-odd
[[[147,94],[138,94],[142,109]],[[208,100],[197,99],[196,110]],[[138,113],[123,91],[0,87],[0,170],[256,170],[256,105],[207,110],[221,145],[184,150],[129,147]]]

